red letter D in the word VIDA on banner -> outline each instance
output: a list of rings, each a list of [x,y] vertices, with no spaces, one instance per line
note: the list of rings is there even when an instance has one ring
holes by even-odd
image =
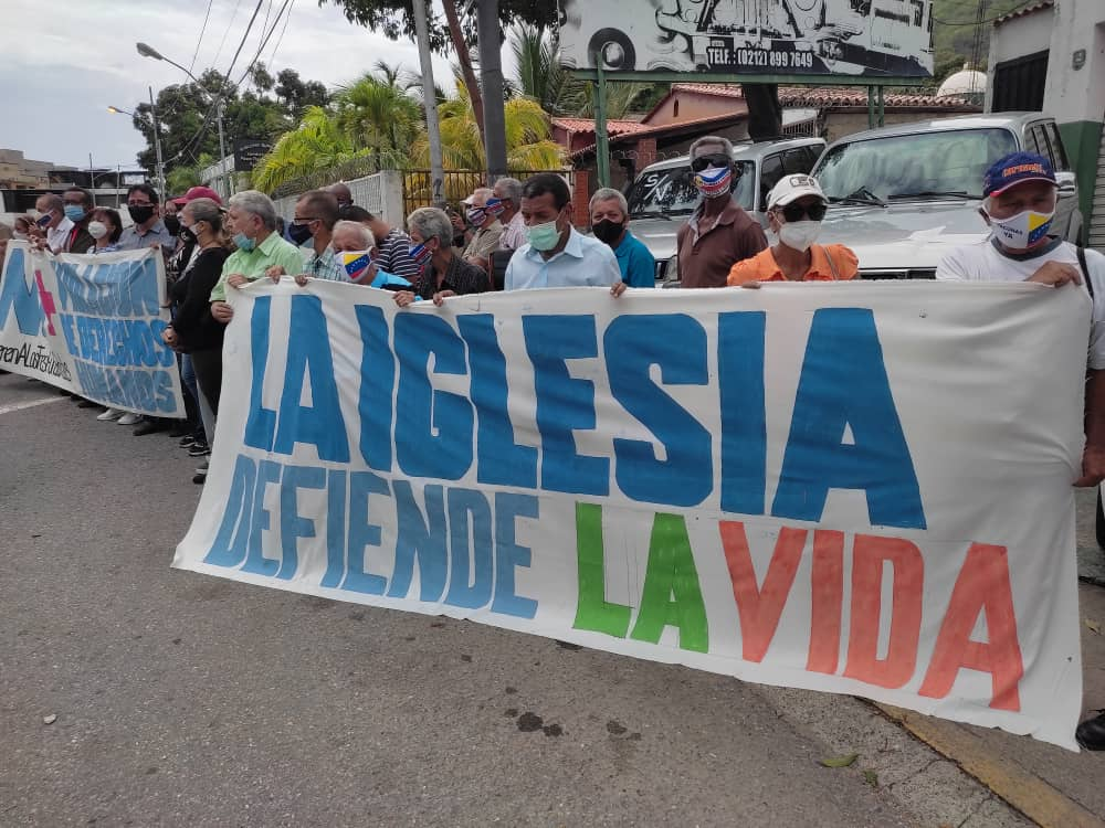
[[[886,658],[878,656],[883,562],[893,566],[891,633]],[[880,687],[903,687],[913,677],[920,640],[925,561],[902,538],[857,534],[852,544],[852,612],[844,676]]]

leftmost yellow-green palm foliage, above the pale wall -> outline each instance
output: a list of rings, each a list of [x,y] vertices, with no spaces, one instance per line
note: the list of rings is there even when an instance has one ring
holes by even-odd
[[[318,106],[308,107],[295,129],[284,132],[253,169],[253,185],[271,193],[281,184],[334,167],[368,150],[358,150],[337,120]]]

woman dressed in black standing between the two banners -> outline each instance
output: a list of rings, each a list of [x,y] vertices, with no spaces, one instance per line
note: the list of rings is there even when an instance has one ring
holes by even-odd
[[[221,208],[211,199],[194,199],[180,211],[181,227],[196,238],[199,253],[188,270],[187,291],[177,308],[172,325],[161,335],[170,348],[185,352],[196,372],[200,417],[207,440],[213,438],[222,384],[222,338],[225,326],[211,316],[211,289],[219,282],[223,263],[230,255],[222,233]],[[199,457],[209,445],[193,443],[189,454]],[[203,482],[206,473],[197,471],[193,482]]]

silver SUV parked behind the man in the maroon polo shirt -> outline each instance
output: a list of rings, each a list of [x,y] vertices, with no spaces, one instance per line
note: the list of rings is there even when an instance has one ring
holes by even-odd
[[[740,206],[767,226],[767,194],[782,176],[809,172],[825,148],[821,138],[738,144],[733,148],[733,194]],[[698,203],[691,157],[657,161],[630,184],[630,230],[656,259],[656,282],[678,283],[675,233]]]

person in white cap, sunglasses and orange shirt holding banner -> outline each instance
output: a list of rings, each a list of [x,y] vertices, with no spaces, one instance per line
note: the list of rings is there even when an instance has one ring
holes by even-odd
[[[829,200],[811,176],[783,176],[767,197],[768,225],[778,241],[729,270],[729,285],[852,279],[859,259],[842,244],[814,244]]]

